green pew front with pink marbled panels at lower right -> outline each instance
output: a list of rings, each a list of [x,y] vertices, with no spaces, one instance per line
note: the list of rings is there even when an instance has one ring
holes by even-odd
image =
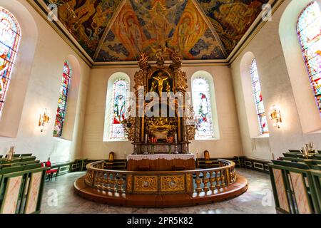
[[[272,160],[269,169],[277,212],[320,213],[310,165],[300,161]]]

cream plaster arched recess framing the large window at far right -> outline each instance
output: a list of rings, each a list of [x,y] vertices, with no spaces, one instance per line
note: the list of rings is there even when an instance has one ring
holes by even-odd
[[[315,105],[315,94],[311,89],[309,74],[297,37],[297,19],[311,2],[311,0],[291,1],[283,11],[279,24],[283,55],[303,133],[315,133],[321,130],[320,112]],[[317,3],[320,5],[321,1],[317,0]]]

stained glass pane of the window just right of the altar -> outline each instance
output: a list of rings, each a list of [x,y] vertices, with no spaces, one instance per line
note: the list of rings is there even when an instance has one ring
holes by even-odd
[[[212,106],[210,105],[210,85],[208,80],[198,77],[193,80],[193,106],[198,130],[196,139],[213,138]]]

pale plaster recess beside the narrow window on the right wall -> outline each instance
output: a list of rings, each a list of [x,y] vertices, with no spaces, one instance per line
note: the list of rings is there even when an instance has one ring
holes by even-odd
[[[246,117],[248,118],[248,129],[250,138],[268,137],[268,133],[262,130],[262,125],[260,124],[260,113],[257,111],[258,108],[255,103],[255,96],[253,93],[253,76],[251,74],[253,73],[251,72],[253,60],[255,60],[254,54],[248,51],[244,54],[242,60],[240,61],[240,75],[243,88],[245,112]],[[256,68],[256,71],[257,74],[260,75],[260,69]]]

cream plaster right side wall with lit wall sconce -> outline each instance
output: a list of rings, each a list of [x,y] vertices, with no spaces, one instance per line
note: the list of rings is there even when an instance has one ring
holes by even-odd
[[[320,133],[304,134],[302,132],[297,104],[280,42],[280,18],[289,3],[290,0],[285,0],[281,4],[272,15],[272,21],[267,21],[231,64],[243,152],[248,157],[271,159],[271,151],[275,157],[278,157],[288,149],[300,149],[304,143],[310,140],[315,142],[317,149],[321,149]],[[300,48],[300,46],[292,48]],[[268,120],[270,138],[253,138],[250,135],[248,122],[258,120],[248,119],[244,98],[246,91],[242,86],[241,77],[243,74],[240,73],[240,68],[243,68],[241,66],[242,58],[249,51],[254,54],[258,64],[265,111],[268,112],[270,107],[276,104],[280,106],[282,114],[283,123],[280,129],[273,128],[271,120]],[[305,118],[309,117],[305,116]]]

